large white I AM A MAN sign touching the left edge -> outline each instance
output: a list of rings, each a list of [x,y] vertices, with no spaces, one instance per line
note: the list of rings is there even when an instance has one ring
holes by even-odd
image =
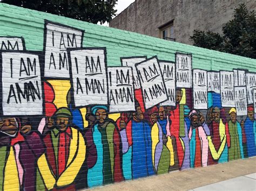
[[[1,69],[3,116],[43,115],[43,89],[38,54],[2,52]]]

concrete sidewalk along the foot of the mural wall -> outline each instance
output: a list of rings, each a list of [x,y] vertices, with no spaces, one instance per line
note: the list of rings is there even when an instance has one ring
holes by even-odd
[[[246,178],[245,175],[253,173],[256,173],[256,157],[244,160],[234,160],[226,162],[225,164],[204,168],[187,169],[185,171],[149,176],[147,178],[114,183],[104,187],[96,187],[91,190],[219,190],[223,187],[219,187],[218,185],[214,187],[212,184],[237,178],[239,176]],[[242,179],[235,179],[234,181],[240,181],[240,183],[244,183],[244,185],[248,186],[251,185],[251,183],[245,182],[245,180]],[[255,186],[255,180],[253,181]],[[227,181],[225,188],[236,188],[232,187],[232,185],[228,186],[229,184],[230,182]],[[210,187],[204,188],[203,186],[206,185]],[[251,187],[249,189],[246,187],[241,188],[244,188],[242,190],[250,190]],[[236,190],[241,189],[240,187],[237,187]],[[256,188],[254,190],[256,190]]]

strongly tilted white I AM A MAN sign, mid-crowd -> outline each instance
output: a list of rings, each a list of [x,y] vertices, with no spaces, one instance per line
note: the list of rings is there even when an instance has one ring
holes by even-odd
[[[145,109],[166,101],[167,93],[157,57],[136,64]]]

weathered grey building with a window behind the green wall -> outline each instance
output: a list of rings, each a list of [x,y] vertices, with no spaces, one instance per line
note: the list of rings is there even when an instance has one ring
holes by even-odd
[[[109,26],[192,44],[193,30],[221,33],[241,3],[256,9],[255,0],[136,0]]]

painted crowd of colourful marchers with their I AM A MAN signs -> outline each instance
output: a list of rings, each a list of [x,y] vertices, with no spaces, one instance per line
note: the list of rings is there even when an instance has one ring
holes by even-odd
[[[256,155],[256,73],[145,55],[107,66],[45,21],[44,50],[0,37],[0,189],[76,190]]]

